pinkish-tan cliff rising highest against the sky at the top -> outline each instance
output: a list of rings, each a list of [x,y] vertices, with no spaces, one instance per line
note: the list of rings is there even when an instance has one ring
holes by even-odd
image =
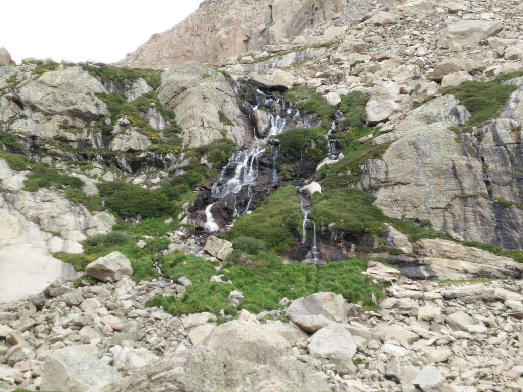
[[[187,60],[220,65],[228,57],[292,40],[346,9],[347,0],[213,0],[180,24],[154,34],[119,64],[166,68]],[[245,12],[248,9],[248,12]]]

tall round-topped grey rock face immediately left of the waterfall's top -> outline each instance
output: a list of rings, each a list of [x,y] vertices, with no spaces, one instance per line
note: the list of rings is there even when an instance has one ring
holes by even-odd
[[[172,110],[184,131],[184,144],[200,147],[226,137],[243,145],[241,112],[225,76],[207,65],[188,61],[162,74],[162,105]]]

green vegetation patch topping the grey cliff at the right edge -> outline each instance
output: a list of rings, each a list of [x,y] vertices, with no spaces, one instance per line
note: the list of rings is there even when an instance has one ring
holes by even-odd
[[[458,86],[442,90],[441,94],[452,94],[459,99],[472,114],[468,125],[479,126],[487,120],[496,118],[502,112],[510,95],[517,90],[517,86],[501,84],[502,80],[503,77],[489,82],[465,80]]]

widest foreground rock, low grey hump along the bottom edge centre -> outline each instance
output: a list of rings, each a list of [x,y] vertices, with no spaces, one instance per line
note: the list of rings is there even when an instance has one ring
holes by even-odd
[[[222,343],[228,344],[225,339]],[[254,358],[253,353],[253,358]],[[323,377],[293,357],[260,366],[204,348],[190,349],[137,370],[132,375],[92,392],[329,392]]]

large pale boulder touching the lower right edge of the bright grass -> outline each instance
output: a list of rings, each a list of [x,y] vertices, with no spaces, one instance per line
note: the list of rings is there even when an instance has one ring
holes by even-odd
[[[296,299],[287,309],[286,316],[291,320],[298,316],[324,316],[328,320],[344,322],[349,306],[343,295],[315,293]]]

